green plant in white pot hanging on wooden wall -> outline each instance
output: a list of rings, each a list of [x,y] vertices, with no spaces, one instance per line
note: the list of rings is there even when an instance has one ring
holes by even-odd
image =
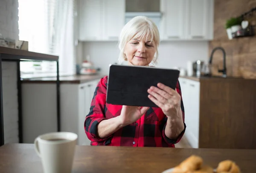
[[[241,17],[231,17],[227,20],[225,28],[227,29],[227,36],[231,40],[232,33],[241,29]]]

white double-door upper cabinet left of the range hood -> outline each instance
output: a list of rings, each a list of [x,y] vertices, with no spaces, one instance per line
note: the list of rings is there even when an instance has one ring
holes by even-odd
[[[125,25],[125,0],[78,0],[79,40],[118,40]]]

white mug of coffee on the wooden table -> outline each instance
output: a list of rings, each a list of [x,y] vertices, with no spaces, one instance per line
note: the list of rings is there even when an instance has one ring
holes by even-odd
[[[77,134],[53,132],[35,139],[35,151],[41,157],[44,173],[71,173]]]

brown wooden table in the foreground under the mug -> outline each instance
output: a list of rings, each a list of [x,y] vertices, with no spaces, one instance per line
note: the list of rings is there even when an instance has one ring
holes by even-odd
[[[256,173],[256,150],[76,146],[73,173],[161,173],[196,154],[216,167],[235,161],[243,173]],[[0,147],[0,173],[43,173],[33,144]]]

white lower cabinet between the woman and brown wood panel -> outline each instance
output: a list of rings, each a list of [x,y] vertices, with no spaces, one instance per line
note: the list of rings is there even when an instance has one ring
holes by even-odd
[[[185,136],[193,148],[199,144],[200,82],[179,78],[185,109]]]

